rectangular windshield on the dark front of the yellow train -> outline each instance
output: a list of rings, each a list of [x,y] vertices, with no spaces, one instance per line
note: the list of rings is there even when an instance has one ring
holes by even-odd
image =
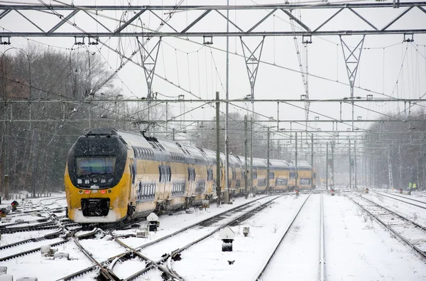
[[[115,170],[115,157],[84,157],[76,160],[77,176],[113,174]]]

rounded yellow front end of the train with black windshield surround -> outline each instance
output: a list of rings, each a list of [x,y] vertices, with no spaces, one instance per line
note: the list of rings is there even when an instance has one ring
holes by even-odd
[[[92,129],[70,149],[65,168],[67,213],[76,223],[126,218],[131,174],[128,149],[114,129]]]

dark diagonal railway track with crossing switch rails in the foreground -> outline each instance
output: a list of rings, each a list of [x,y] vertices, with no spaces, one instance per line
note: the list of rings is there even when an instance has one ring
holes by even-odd
[[[268,196],[266,196],[266,197],[268,197]],[[90,267],[87,267],[84,270],[80,270],[79,272],[75,272],[75,273],[72,273],[71,275],[67,275],[66,277],[62,277],[62,278],[60,278],[60,280],[72,280],[75,277],[87,275],[90,272],[93,272],[94,270],[96,270],[96,267],[102,267],[103,270],[106,270],[106,272],[109,272],[109,275],[111,275],[111,277],[119,278],[114,274],[114,266],[118,263],[125,263],[126,260],[130,260],[130,259],[140,260],[141,265],[140,265],[139,268],[141,268],[141,270],[134,272],[132,275],[127,276],[126,278],[112,279],[112,280],[134,280],[137,277],[140,277],[141,275],[144,275],[148,271],[153,270],[153,269],[158,269],[160,272],[162,272],[162,275],[163,275],[164,278],[172,278],[174,280],[182,280],[182,278],[176,272],[174,272],[173,269],[169,269],[168,267],[163,266],[163,263],[165,263],[169,258],[171,259],[171,258],[174,258],[176,255],[178,255],[178,252],[176,250],[173,251],[171,254],[163,255],[163,257],[161,257],[161,255],[165,252],[159,252],[160,254],[158,256],[160,258],[158,258],[157,256],[155,257],[155,258],[158,258],[157,261],[155,261],[154,258],[148,258],[148,255],[144,255],[143,253],[141,253],[141,251],[144,250],[144,249],[146,250],[147,248],[155,247],[155,245],[159,245],[161,243],[164,243],[165,240],[170,240],[170,239],[173,239],[173,238],[178,237],[178,236],[180,236],[180,238],[182,238],[182,233],[185,233],[185,231],[187,231],[187,230],[194,229],[194,228],[207,228],[208,226],[212,228],[215,224],[219,223],[220,221],[226,220],[225,223],[222,223],[222,224],[219,223],[219,226],[217,226],[217,228],[214,228],[213,231],[206,233],[205,235],[202,236],[202,238],[197,239],[194,243],[199,242],[200,240],[203,240],[203,239],[209,237],[209,235],[216,233],[219,229],[224,228],[224,226],[227,226],[231,223],[235,223],[236,221],[241,221],[242,219],[244,219],[244,216],[248,217],[249,216],[248,213],[251,213],[251,212],[254,212],[254,211],[260,211],[260,209],[262,208],[261,206],[263,206],[263,208],[264,208],[264,206],[266,206],[268,203],[271,203],[271,201],[275,200],[276,198],[278,198],[280,196],[273,196],[272,199],[262,203],[261,206],[257,206],[256,208],[254,208],[254,206],[256,206],[256,204],[257,205],[259,204],[258,201],[264,200],[266,197],[258,198],[254,201],[250,201],[250,202],[244,203],[243,205],[236,206],[236,207],[231,208],[227,211],[224,211],[222,213],[214,215],[210,218],[206,218],[206,219],[199,221],[197,223],[193,223],[190,226],[186,226],[184,228],[181,228],[180,230],[175,231],[174,233],[170,233],[168,235],[160,237],[156,240],[153,240],[149,243],[138,246],[136,248],[131,248],[129,245],[126,245],[121,240],[119,240],[119,238],[114,238],[114,240],[116,240],[117,243],[119,243],[123,248],[125,248],[124,253],[121,253],[119,255],[115,255],[111,258],[108,258],[104,262],[99,263],[99,265],[92,265]],[[244,212],[248,208],[251,208],[251,210]],[[244,212],[244,213],[238,215],[241,212]],[[192,245],[193,245],[193,243],[192,243]],[[190,247],[190,245],[185,245],[183,248],[180,248],[180,250],[181,251],[185,250],[185,247]],[[170,251],[170,248],[168,248],[168,250]],[[101,275],[102,275],[102,272],[104,272],[103,270],[101,270]],[[106,275],[106,273],[105,273],[105,275]],[[98,278],[102,279],[104,277],[98,276]]]

